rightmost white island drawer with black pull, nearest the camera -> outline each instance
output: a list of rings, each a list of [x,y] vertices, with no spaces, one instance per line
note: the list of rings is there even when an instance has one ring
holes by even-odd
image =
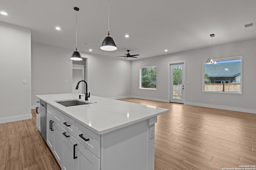
[[[89,140],[86,141],[86,139]],[[78,140],[78,142],[92,152],[97,158],[100,158],[100,135],[97,135],[93,131],[76,122],[76,140]]]

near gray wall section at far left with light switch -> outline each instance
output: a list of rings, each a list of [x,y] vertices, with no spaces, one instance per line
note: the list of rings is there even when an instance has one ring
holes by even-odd
[[[0,123],[31,118],[30,35],[30,29],[0,22]]]

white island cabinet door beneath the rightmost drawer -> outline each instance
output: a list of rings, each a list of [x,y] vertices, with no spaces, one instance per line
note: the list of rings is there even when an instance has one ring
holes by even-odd
[[[97,158],[78,142],[78,170],[100,170],[100,158]]]

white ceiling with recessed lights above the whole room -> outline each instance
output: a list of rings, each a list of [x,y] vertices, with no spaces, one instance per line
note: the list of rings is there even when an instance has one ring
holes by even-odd
[[[256,0],[110,0],[116,51],[100,49],[108,33],[108,0],[0,0],[0,11],[8,13],[0,21],[30,28],[32,42],[68,48],[71,55],[76,46],[74,7],[80,8],[78,50],[111,57],[127,49],[142,59],[209,47],[212,33],[214,45],[256,38],[255,26],[242,26],[256,21]]]

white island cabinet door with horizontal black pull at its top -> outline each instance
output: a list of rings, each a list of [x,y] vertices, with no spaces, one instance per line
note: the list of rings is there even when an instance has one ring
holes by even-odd
[[[77,170],[78,169],[78,146],[76,139],[67,131],[63,135],[63,170]]]

